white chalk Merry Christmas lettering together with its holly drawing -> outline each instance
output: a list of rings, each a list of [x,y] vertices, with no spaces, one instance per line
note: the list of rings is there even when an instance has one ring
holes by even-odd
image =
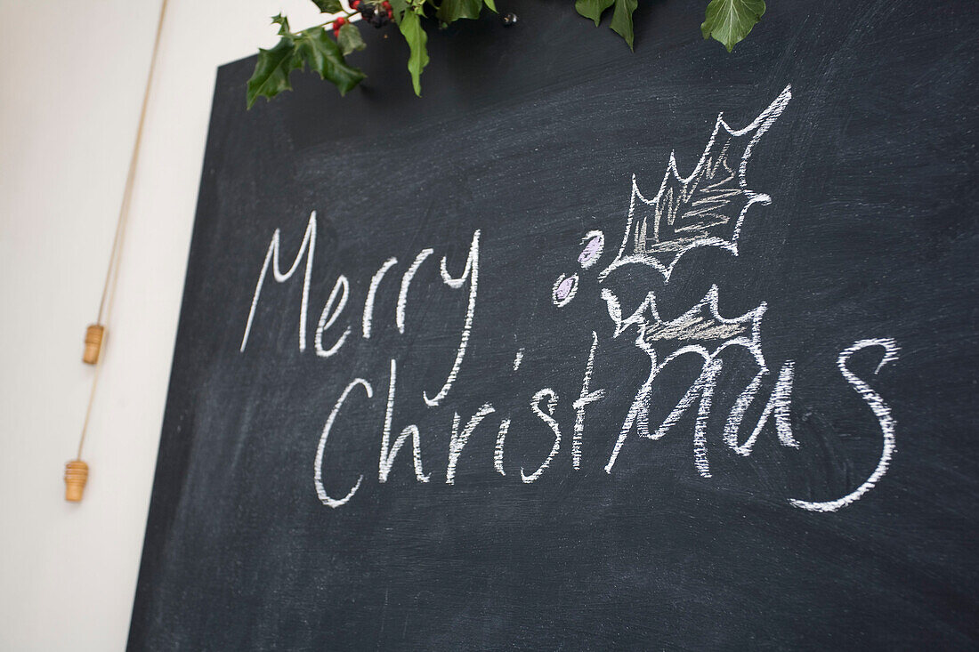
[[[396,303],[393,313],[391,307],[379,304],[379,289],[385,282],[386,274],[394,268],[398,261],[396,256],[384,259],[376,267],[367,283],[367,291],[363,300],[360,318],[360,330],[363,340],[370,340],[378,329],[391,329],[392,322],[397,336],[411,335],[412,324],[418,317],[412,317],[412,307],[415,303],[430,301],[433,293],[447,291],[449,296],[453,291],[468,288],[465,297],[465,311],[458,331],[458,344],[447,356],[447,372],[441,371],[439,378],[444,378],[441,388],[434,394],[426,389],[398,388],[396,357],[385,355],[390,360],[388,365],[388,396],[383,410],[380,432],[376,432],[380,443],[378,457],[378,483],[385,484],[393,472],[398,452],[410,442],[411,460],[415,480],[418,483],[429,483],[432,473],[426,474],[423,465],[421,421],[395,426],[396,395],[398,404],[410,401],[414,405],[423,405],[426,410],[433,410],[437,421],[441,421],[442,431],[447,436],[448,447],[445,462],[444,482],[455,485],[459,480],[460,468],[465,468],[463,452],[474,438],[489,438],[495,432],[495,442],[492,453],[492,470],[499,476],[510,479],[507,467],[518,469],[520,482],[533,484],[541,480],[548,471],[559,464],[562,452],[562,426],[568,432],[571,426],[570,442],[570,472],[577,473],[583,468],[588,433],[591,429],[608,428],[607,423],[592,424],[595,419],[586,421],[586,414],[593,406],[602,403],[613,393],[621,393],[623,387],[629,394],[622,396],[624,404],[629,407],[625,413],[620,413],[621,421],[613,426],[612,433],[615,441],[611,449],[605,448],[599,458],[606,474],[612,474],[620,458],[623,456],[625,444],[630,437],[639,437],[658,441],[680,428],[683,417],[690,414],[692,432],[689,433],[689,445],[693,469],[709,481],[714,477],[712,458],[718,450],[726,449],[727,454],[733,454],[732,459],[747,458],[758,448],[763,434],[773,431],[774,438],[767,445],[777,445],[792,450],[801,450],[806,442],[797,439],[792,428],[793,388],[798,372],[794,360],[787,359],[773,363],[766,355],[763,338],[763,323],[769,311],[769,303],[758,301],[754,308],[741,314],[724,314],[721,308],[722,279],[717,279],[703,296],[687,298],[688,305],[679,316],[667,318],[660,306],[657,293],[662,293],[661,287],[677,282],[677,263],[688,253],[705,248],[713,248],[723,253],[722,256],[740,256],[738,241],[741,227],[752,207],[766,206],[772,203],[771,197],[754,189],[749,183],[748,166],[760,140],[769,132],[779,116],[787,109],[792,100],[791,87],[786,87],[757,117],[747,126],[740,129],[732,128],[724,119],[723,114],[717,117],[713,132],[707,146],[693,170],[687,176],[682,176],[676,163],[676,155],[671,154],[666,172],[660,181],[655,195],[647,199],[640,190],[637,175],[631,177],[629,210],[625,219],[621,244],[617,251],[610,253],[611,260],[599,264],[605,256],[606,231],[593,229],[583,234],[581,249],[572,259],[573,269],[561,271],[556,275],[549,288],[548,310],[564,310],[575,301],[593,301],[597,309],[586,310],[583,314],[583,327],[590,331],[590,347],[581,351],[581,382],[574,386],[572,395],[559,396],[554,388],[565,387],[547,380],[536,384],[536,390],[526,390],[527,394],[517,400],[510,401],[503,396],[494,399],[496,405],[489,401],[482,402],[468,418],[460,414],[460,409],[452,404],[453,387],[459,382],[463,365],[477,367],[480,373],[513,374],[513,378],[526,378],[530,372],[525,371],[529,364],[533,367],[535,350],[519,348],[513,354],[500,351],[504,367],[501,369],[484,368],[482,360],[470,360],[467,351],[472,347],[473,328],[477,316],[477,303],[480,291],[480,247],[481,231],[475,230],[469,242],[468,253],[464,262],[461,256],[441,256],[438,276],[432,265],[424,267],[425,261],[436,254],[436,249],[425,247],[414,254],[411,264],[403,271],[398,286]],[[280,249],[283,241],[295,243],[296,234],[283,235],[280,229],[272,234],[263,262],[258,272],[255,291],[252,295],[247,320],[245,321],[240,353],[245,354],[250,336],[256,323],[257,307],[261,300],[261,292],[268,269],[272,269],[276,282],[288,281],[305,259],[305,276],[303,280],[303,295],[299,310],[299,351],[305,350],[305,329],[307,304],[309,301],[310,275],[315,264],[316,245],[316,212],[310,213],[299,251],[289,269],[282,271],[280,266]],[[488,241],[489,242],[489,241]],[[293,244],[293,247],[296,245]],[[403,253],[402,253],[403,254]],[[384,256],[385,254],[382,254]],[[380,259],[380,258],[379,258]],[[411,259],[411,258],[405,258]],[[576,264],[577,263],[577,264]],[[372,266],[370,269],[375,269]],[[457,275],[449,272],[449,268],[461,271]],[[630,274],[637,267],[651,268],[662,277],[662,283],[651,284],[642,280],[642,274]],[[555,270],[559,271],[559,270]],[[419,275],[419,272],[422,272]],[[433,280],[434,277],[434,280]],[[354,279],[355,280],[355,279]],[[427,284],[419,286],[418,284]],[[350,315],[346,314],[353,298],[350,279],[345,274],[337,274],[328,299],[323,304],[314,334],[314,349],[318,357],[331,357],[337,354],[348,341],[351,328]],[[418,288],[412,290],[412,288]],[[585,291],[583,288],[587,288]],[[594,290],[597,288],[597,292]],[[625,289],[625,291],[624,291]],[[547,292],[547,289],[544,289]],[[409,295],[410,293],[410,295]],[[383,297],[383,293],[380,295]],[[409,304],[409,296],[413,297]],[[458,295],[456,295],[458,296]],[[463,296],[458,296],[461,305]],[[629,298],[637,298],[634,307],[628,303]],[[273,300],[266,300],[273,301]],[[383,302],[382,302],[383,303]],[[755,302],[749,303],[755,304]],[[577,303],[576,303],[577,305]],[[428,309],[426,306],[425,310]],[[392,314],[394,319],[392,320]],[[566,312],[555,312],[566,314]],[[346,315],[346,316],[345,316]],[[605,319],[608,321],[605,321]],[[412,321],[412,320],[416,321]],[[456,315],[445,315],[446,324],[459,322]],[[593,322],[593,323],[592,323]],[[605,333],[606,336],[600,336]],[[330,337],[324,344],[324,338]],[[603,342],[602,337],[608,338]],[[628,353],[639,360],[643,369],[648,365],[648,373],[644,372],[641,382],[631,387],[617,383],[610,386],[608,380],[602,382],[605,387],[593,387],[596,369],[602,367],[606,355],[605,349],[610,341],[624,338],[623,343]],[[516,339],[516,335],[515,335]],[[453,340],[455,341],[455,340]],[[364,346],[367,346],[366,344]],[[374,346],[371,344],[371,346]],[[519,346],[519,343],[518,343]],[[623,347],[620,346],[619,350]],[[827,499],[787,498],[789,505],[814,512],[832,512],[861,499],[870,489],[876,487],[887,473],[893,458],[895,446],[896,425],[891,407],[877,390],[855,373],[850,364],[851,357],[863,349],[882,350],[874,375],[881,369],[898,359],[899,348],[896,342],[888,338],[865,339],[839,353],[836,367],[842,375],[843,387],[848,387],[863,401],[873,415],[882,437],[881,455],[873,472],[856,489],[841,497],[828,496]],[[513,349],[508,349],[513,351]],[[739,354],[736,354],[739,353]],[[570,354],[570,353],[569,353]],[[439,369],[445,369],[445,364],[439,351],[427,357]],[[662,396],[657,390],[670,383],[676,383],[676,376],[668,373],[685,365],[690,368],[691,361],[699,367],[696,377],[689,383],[675,405],[657,405],[663,409],[666,416],[657,423],[652,421],[653,396]],[[576,362],[577,364],[578,362]],[[603,368],[605,376],[614,366]],[[506,366],[509,368],[507,369]],[[777,370],[777,374],[774,371]],[[737,373],[735,373],[737,372]],[[383,372],[382,372],[383,373]],[[442,373],[445,375],[442,376]],[[864,374],[865,375],[865,374]],[[382,376],[383,377],[383,376]],[[747,379],[746,384],[738,383],[738,379]],[[724,381],[724,382],[722,382]],[[402,381],[403,383],[403,381]],[[505,383],[502,383],[506,387]],[[526,385],[526,384],[525,384]],[[525,385],[514,384],[515,388]],[[615,389],[613,389],[613,387]],[[345,408],[350,395],[355,389],[362,389],[368,398],[373,397],[371,382],[364,378],[354,378],[344,389],[333,405],[316,446],[314,461],[314,487],[319,500],[330,507],[340,507],[350,501],[350,498],[361,487],[364,475],[342,498],[331,497],[324,489],[323,465],[326,456],[326,444],[334,429],[335,422],[342,408],[356,410],[363,417],[370,411],[369,405],[356,401]],[[731,391],[733,388],[733,391]],[[525,390],[515,390],[523,392]],[[533,392],[533,396],[532,395]],[[562,394],[565,390],[561,390]],[[729,394],[730,396],[725,396]],[[505,395],[505,392],[504,392]],[[528,396],[530,396],[528,400]],[[629,400],[629,396],[631,397]],[[419,398],[421,399],[419,401]],[[562,403],[563,400],[563,403]],[[562,424],[562,413],[559,405],[564,405],[566,413],[574,414],[571,424]],[[517,405],[517,407],[509,407]],[[728,406],[726,414],[719,405]],[[473,407],[467,408],[472,410]],[[514,410],[519,410],[514,412]],[[720,415],[717,413],[721,411]],[[754,423],[745,423],[746,417],[752,412],[757,414]],[[440,416],[441,415],[441,416]],[[450,418],[449,418],[450,415]],[[516,415],[521,421],[515,422]],[[710,425],[723,417],[723,432],[712,435]],[[358,418],[358,428],[366,427],[370,421]],[[531,424],[516,428],[515,423]],[[586,423],[590,424],[586,428]],[[484,425],[485,424],[485,425]],[[770,427],[769,427],[769,424]],[[482,425],[482,428],[481,428]],[[425,426],[428,428],[428,426]],[[541,449],[531,464],[522,464],[521,460],[511,461],[506,447],[514,437],[523,437],[528,429],[533,428],[535,437],[539,433],[548,436],[549,449]],[[489,431],[486,432],[486,431]],[[617,432],[616,432],[617,431]],[[396,437],[394,433],[398,433]],[[345,436],[350,436],[346,434]],[[676,435],[673,435],[676,437]],[[611,441],[611,440],[610,440]],[[713,442],[713,443],[712,443]],[[713,446],[713,447],[712,447]],[[512,454],[512,453],[511,453]],[[424,458],[430,466],[436,459],[434,451],[424,451]],[[489,471],[489,464],[485,468]],[[511,482],[515,482],[515,479]]]

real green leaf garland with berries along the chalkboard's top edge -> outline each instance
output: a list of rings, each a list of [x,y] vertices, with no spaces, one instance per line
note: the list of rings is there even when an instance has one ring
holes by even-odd
[[[292,90],[289,75],[293,70],[305,70],[306,66],[333,83],[341,95],[346,95],[366,78],[362,70],[347,63],[351,53],[365,47],[358,23],[375,27],[397,25],[408,45],[411,85],[415,95],[420,96],[422,71],[429,63],[425,25],[436,23],[444,27],[459,20],[478,19],[484,9],[496,12],[493,0],[350,0],[350,9],[340,0],[311,1],[321,13],[333,18],[300,31],[292,31],[289,21],[281,14],[272,18],[272,23],[279,25],[279,42],[268,50],[258,49],[258,61],[246,94],[249,109],[259,97],[269,99]],[[632,14],[638,3],[639,0],[576,0],[575,9],[595,26],[612,9],[609,26],[633,49]],[[700,25],[701,33],[705,39],[713,37],[720,41],[730,52],[762,19],[765,10],[765,0],[711,0]],[[506,23],[514,21],[515,18],[508,17]]]

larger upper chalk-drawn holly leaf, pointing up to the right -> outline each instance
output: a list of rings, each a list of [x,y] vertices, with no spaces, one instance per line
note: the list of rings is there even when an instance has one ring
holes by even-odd
[[[737,256],[737,239],[745,213],[771,198],[748,187],[745,174],[752,150],[792,99],[791,86],[748,126],[734,130],[718,115],[704,154],[689,176],[680,176],[676,154],[659,192],[646,199],[632,176],[629,219],[622,246],[604,277],[616,267],[642,263],[669,280],[676,261],[698,247],[719,247]]]

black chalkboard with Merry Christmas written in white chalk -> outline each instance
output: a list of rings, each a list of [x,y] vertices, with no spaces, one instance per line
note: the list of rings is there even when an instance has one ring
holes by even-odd
[[[220,69],[129,648],[975,648],[975,4],[498,4]]]

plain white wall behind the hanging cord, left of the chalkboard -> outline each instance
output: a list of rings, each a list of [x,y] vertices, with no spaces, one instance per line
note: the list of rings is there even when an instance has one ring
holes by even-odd
[[[115,312],[83,458],[81,362],[109,259],[159,0],[0,0],[0,649],[125,645],[218,65],[307,0],[169,0]],[[244,88],[242,89],[244,104]]]

